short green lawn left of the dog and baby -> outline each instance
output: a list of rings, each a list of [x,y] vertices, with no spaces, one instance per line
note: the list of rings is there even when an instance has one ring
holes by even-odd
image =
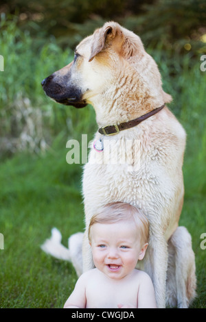
[[[40,249],[53,225],[65,245],[84,228],[81,169],[65,155],[66,149],[41,158],[23,154],[1,164],[0,307],[62,307],[76,282],[71,264]]]

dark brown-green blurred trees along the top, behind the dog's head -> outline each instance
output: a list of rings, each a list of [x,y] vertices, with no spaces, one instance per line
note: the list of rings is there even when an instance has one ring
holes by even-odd
[[[161,42],[166,49],[184,53],[189,43],[193,53],[206,51],[201,42],[205,0],[8,0],[2,10],[19,16],[19,27],[36,38],[54,35],[60,45],[72,49],[95,28],[113,20],[139,34],[147,47]]]

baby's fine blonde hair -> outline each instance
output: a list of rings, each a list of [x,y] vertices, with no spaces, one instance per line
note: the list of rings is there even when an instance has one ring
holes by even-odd
[[[141,243],[148,243],[149,240],[149,222],[146,216],[129,203],[113,202],[107,203],[100,208],[98,213],[91,217],[89,223],[89,241],[91,242],[91,227],[95,223],[117,223],[118,221],[134,221],[137,226],[137,234],[139,234]]]

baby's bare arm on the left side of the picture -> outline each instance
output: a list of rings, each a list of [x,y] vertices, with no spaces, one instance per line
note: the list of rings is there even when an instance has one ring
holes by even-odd
[[[86,308],[86,279],[85,275],[82,274],[78,281],[76,282],[76,286],[67,299],[64,308]]]

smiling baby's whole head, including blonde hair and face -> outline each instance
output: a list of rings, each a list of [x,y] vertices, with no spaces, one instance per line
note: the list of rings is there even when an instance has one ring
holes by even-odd
[[[89,224],[95,267],[115,279],[128,275],[144,258],[148,238],[146,216],[128,203],[106,204]]]

